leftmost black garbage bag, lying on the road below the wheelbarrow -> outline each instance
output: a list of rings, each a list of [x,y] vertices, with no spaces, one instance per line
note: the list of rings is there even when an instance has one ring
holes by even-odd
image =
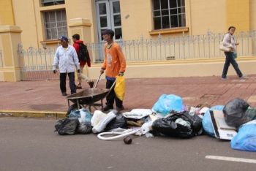
[[[71,135],[75,134],[78,124],[78,118],[64,118],[56,122],[55,129],[60,135]]]

